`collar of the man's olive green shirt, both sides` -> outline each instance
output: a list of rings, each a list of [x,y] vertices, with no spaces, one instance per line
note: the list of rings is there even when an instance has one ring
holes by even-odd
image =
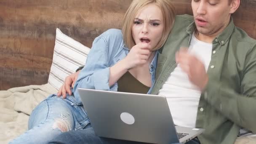
[[[227,41],[229,40],[230,36],[232,35],[234,28],[235,28],[235,24],[234,24],[233,18],[231,17],[228,26],[224,29],[223,32],[221,32],[220,35],[218,35],[218,36],[214,39],[214,41],[215,41],[215,42],[219,42],[221,45],[224,45],[225,43],[227,43]],[[186,32],[187,32],[189,35],[192,35],[193,32],[195,31],[195,29],[196,29],[195,21],[193,21],[193,22],[192,22],[191,24],[189,24],[189,26],[187,27]],[[214,41],[213,41],[213,43],[214,43]]]

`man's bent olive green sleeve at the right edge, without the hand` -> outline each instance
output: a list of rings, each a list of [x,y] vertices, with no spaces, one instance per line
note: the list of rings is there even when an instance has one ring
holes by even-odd
[[[210,80],[205,88],[209,104],[229,120],[243,128],[256,132],[256,44],[248,51],[240,92]]]

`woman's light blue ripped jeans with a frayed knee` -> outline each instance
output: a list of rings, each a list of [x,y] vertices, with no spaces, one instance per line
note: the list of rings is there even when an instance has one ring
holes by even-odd
[[[59,134],[86,128],[90,123],[83,105],[74,96],[66,99],[51,95],[29,117],[28,131],[10,144],[46,144]]]

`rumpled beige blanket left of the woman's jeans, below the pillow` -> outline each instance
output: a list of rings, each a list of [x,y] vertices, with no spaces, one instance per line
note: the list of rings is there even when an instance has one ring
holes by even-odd
[[[0,91],[0,144],[7,144],[27,131],[32,110],[52,93],[57,90],[49,84]]]

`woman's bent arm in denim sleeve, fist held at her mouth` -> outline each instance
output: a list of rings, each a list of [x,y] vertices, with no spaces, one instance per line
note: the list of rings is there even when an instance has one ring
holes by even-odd
[[[149,51],[150,45],[148,43],[140,43],[131,48],[125,59],[110,67],[111,56],[114,55],[113,53],[116,53],[114,49],[120,47],[120,43],[109,45],[111,38],[112,41],[118,41],[123,38],[122,33],[107,31],[93,41],[93,46],[88,54],[85,67],[81,70],[77,82],[74,85],[75,95],[78,94],[77,88],[109,91],[110,87],[128,69],[147,62],[151,53]]]

